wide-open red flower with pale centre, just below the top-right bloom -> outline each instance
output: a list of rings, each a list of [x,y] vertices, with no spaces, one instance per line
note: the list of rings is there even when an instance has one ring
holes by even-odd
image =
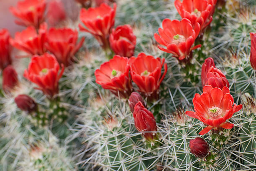
[[[192,47],[200,31],[198,23],[193,29],[191,22],[186,18],[181,21],[166,18],[162,25],[163,28],[158,29],[159,35],[154,34],[156,41],[160,45],[166,46],[166,49],[158,46],[160,50],[172,53],[174,57],[183,60],[184,58],[189,58],[192,50],[201,47],[201,45]]]

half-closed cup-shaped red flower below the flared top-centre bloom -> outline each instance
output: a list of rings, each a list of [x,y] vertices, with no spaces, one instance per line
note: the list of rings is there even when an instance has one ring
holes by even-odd
[[[136,36],[130,25],[120,25],[112,29],[109,37],[110,47],[116,55],[131,57],[136,46]]]

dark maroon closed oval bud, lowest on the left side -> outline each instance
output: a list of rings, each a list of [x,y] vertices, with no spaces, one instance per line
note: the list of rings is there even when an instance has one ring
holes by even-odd
[[[14,99],[16,105],[20,110],[31,113],[37,110],[36,102],[26,94],[20,94]]]

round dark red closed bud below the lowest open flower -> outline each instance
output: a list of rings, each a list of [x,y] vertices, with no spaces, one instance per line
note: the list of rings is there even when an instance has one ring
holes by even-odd
[[[205,158],[210,153],[208,143],[202,138],[195,138],[189,141],[190,152],[196,157]]]

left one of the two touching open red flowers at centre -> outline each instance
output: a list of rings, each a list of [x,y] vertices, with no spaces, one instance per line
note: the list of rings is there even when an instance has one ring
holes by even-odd
[[[129,70],[128,58],[115,55],[113,59],[100,65],[100,69],[95,70],[96,83],[116,96],[127,98],[132,91]]]

